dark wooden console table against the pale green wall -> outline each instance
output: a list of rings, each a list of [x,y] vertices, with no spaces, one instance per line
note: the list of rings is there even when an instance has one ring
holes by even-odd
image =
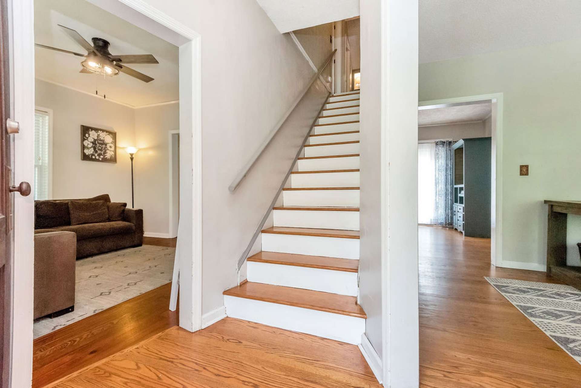
[[[547,275],[581,289],[581,267],[567,265],[567,214],[581,215],[581,201],[544,203],[548,204]]]

